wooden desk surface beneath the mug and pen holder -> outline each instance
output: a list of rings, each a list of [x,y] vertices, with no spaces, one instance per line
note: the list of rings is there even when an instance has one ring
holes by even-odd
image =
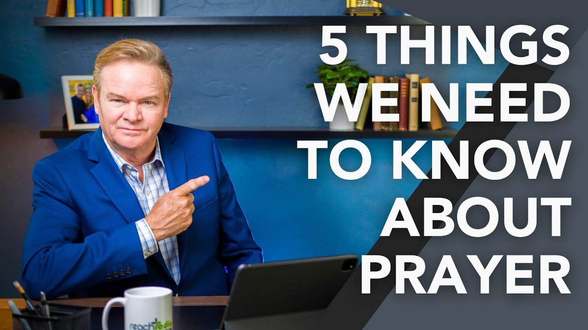
[[[56,299],[50,302],[92,307],[92,329],[101,329],[102,309],[111,298]],[[12,329],[12,312],[8,300],[0,299],[0,329]],[[26,308],[22,298],[12,299],[18,308]],[[218,329],[229,300],[228,296],[173,297],[173,324],[178,329]],[[36,305],[36,301],[33,302]],[[119,307],[120,305],[115,305]],[[122,329],[122,308],[111,310],[109,329]]]

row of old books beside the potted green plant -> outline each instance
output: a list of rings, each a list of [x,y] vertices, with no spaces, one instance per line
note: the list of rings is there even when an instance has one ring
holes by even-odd
[[[422,123],[419,114],[419,91],[423,83],[430,83],[427,78],[419,79],[417,73],[408,73],[405,78],[374,76],[368,80],[368,89],[363,98],[362,109],[359,112],[358,121],[355,123],[355,129],[363,130],[371,127],[373,130],[400,130],[416,131],[419,128],[430,130],[440,130],[443,128],[443,122],[439,116],[439,108],[431,98],[431,120]],[[398,122],[372,122],[372,83],[397,83],[396,92],[381,92],[382,98],[395,98],[398,100],[396,106],[383,106],[380,113],[397,113],[399,114]]]

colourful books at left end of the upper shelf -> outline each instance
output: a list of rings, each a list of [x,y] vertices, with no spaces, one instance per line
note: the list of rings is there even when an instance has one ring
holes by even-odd
[[[46,17],[129,16],[130,0],[48,0]]]

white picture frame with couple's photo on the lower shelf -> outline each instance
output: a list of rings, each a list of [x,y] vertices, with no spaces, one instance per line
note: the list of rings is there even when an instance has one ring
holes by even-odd
[[[100,126],[94,111],[93,84],[92,75],[61,76],[68,130],[92,130]]]

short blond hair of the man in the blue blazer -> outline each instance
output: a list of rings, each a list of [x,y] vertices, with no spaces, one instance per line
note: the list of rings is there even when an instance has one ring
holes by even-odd
[[[168,59],[155,43],[141,39],[122,39],[111,43],[102,49],[94,62],[94,85],[100,92],[100,78],[102,69],[116,60],[136,60],[143,63],[155,64],[163,75],[165,96],[172,90],[173,73]]]

